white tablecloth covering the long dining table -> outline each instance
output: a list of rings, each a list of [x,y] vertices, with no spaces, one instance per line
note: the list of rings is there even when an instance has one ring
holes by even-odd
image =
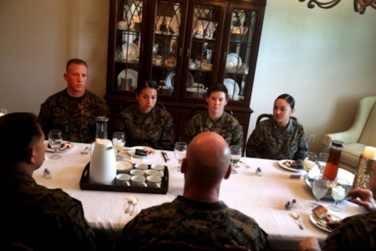
[[[35,170],[33,178],[36,183],[47,188],[61,188],[71,197],[82,202],[85,218],[96,233],[99,246],[111,250],[121,231],[139,211],[162,203],[171,202],[177,196],[183,195],[184,175],[174,167],[178,161],[173,151],[164,151],[170,160],[165,161],[161,150],[156,150],[149,158],[135,158],[125,148],[120,152],[123,161],[133,164],[144,163],[148,165],[161,164],[168,168],[168,190],[165,194],[135,193],[124,191],[82,190],[80,179],[83,170],[90,162],[90,154],[82,151],[90,144],[73,142],[73,147],[59,151],[60,159],[50,159],[52,153],[46,150],[45,161]],[[114,151],[115,155],[115,151]],[[50,179],[44,176],[44,170],[50,171]],[[314,167],[309,176],[317,174]],[[303,170],[289,170],[280,165],[280,161],[271,159],[258,159],[242,157],[237,173],[231,174],[221,183],[219,199],[230,208],[236,209],[252,217],[268,234],[268,241],[273,250],[297,250],[298,243],[307,236],[316,237],[321,245],[328,236],[328,232],[319,228],[310,220],[312,207],[315,202],[312,189],[308,183],[300,178],[305,174]],[[259,171],[257,171],[259,169]],[[315,173],[316,172],[316,173]],[[339,169],[338,177],[353,182],[354,174]],[[135,214],[125,213],[129,197],[137,197],[139,202],[135,205]],[[287,210],[285,205],[294,200],[294,207]],[[331,196],[326,196],[319,201],[325,207],[334,204]],[[349,200],[338,202],[340,212],[329,211],[330,214],[343,219],[345,217],[364,213],[359,205]],[[300,216],[303,230],[299,228],[298,220],[293,213]],[[100,248],[99,248],[100,249]]]

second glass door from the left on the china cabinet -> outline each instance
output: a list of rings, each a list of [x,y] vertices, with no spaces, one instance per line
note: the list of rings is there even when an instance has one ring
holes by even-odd
[[[158,85],[159,95],[176,96],[181,71],[183,4],[157,1],[155,7],[154,39],[152,45],[152,81]]]

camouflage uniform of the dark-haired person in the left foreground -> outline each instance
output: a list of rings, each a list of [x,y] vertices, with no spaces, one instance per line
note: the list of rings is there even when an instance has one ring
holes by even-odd
[[[0,242],[33,250],[94,250],[95,235],[81,202],[24,173],[0,171]]]

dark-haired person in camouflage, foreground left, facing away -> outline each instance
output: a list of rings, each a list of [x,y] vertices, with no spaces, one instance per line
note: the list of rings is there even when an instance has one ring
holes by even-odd
[[[33,250],[94,250],[95,235],[81,202],[36,184],[44,162],[44,133],[32,113],[0,117],[0,242]]]

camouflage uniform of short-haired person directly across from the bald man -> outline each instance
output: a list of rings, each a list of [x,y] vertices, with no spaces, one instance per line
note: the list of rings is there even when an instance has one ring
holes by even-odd
[[[196,114],[188,121],[182,141],[189,144],[201,132],[216,132],[227,144],[243,147],[243,127],[227,112],[223,112],[217,121],[210,119],[208,111]]]

